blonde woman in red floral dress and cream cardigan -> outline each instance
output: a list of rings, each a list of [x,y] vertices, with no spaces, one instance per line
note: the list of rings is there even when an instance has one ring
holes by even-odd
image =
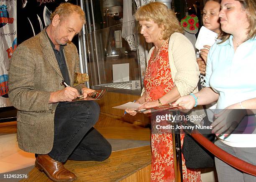
[[[179,97],[197,91],[200,74],[195,51],[182,34],[174,12],[163,3],[149,3],[136,12],[141,34],[154,46],[148,53],[144,89],[136,103],[140,109],[176,101]],[[127,111],[135,115],[135,111]],[[151,181],[174,181],[172,134],[155,134],[156,121],[151,119],[152,168]],[[184,134],[181,135],[183,143]],[[183,180],[200,181],[200,172],[184,165]]]

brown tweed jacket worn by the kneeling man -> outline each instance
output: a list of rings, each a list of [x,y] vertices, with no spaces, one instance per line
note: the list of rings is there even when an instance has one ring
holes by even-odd
[[[70,86],[79,72],[79,56],[73,43],[64,46]],[[26,152],[47,154],[54,141],[54,112],[51,92],[64,88],[56,56],[44,29],[21,43],[10,60],[9,98],[17,113],[18,146]],[[76,86],[79,90],[81,85]]]

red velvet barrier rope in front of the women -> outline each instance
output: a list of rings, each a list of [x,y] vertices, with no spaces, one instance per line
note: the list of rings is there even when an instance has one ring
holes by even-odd
[[[209,150],[215,157],[218,157],[220,160],[223,160],[227,164],[236,169],[239,169],[247,174],[256,176],[256,166],[245,162],[237,157],[225,152],[223,149],[220,149],[218,146],[210,142],[207,138],[202,136],[199,131],[194,129],[190,134],[197,142],[199,142],[205,149]]]

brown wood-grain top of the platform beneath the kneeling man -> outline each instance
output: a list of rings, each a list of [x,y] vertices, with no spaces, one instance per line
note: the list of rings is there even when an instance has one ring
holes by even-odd
[[[121,181],[138,170],[151,164],[150,146],[138,147],[112,152],[103,162],[67,161],[65,167],[77,175],[81,182],[114,182]],[[150,173],[149,173],[150,174]],[[23,182],[50,182],[51,180],[36,168],[28,174],[29,179]],[[148,180],[150,181],[149,176]]]

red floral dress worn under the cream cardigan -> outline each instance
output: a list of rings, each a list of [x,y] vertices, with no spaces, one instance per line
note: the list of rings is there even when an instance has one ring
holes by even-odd
[[[174,83],[172,80],[169,58],[168,58],[169,39],[159,49],[154,58],[154,50],[148,61],[146,75],[144,78],[145,101],[156,101],[169,92]],[[151,118],[151,127],[156,125],[155,119]],[[183,145],[184,134],[181,134],[181,144]],[[151,133],[151,181],[174,182],[174,158],[172,150],[172,134]],[[184,182],[200,182],[201,173],[199,170],[189,170],[185,166],[182,155],[182,172]]]

